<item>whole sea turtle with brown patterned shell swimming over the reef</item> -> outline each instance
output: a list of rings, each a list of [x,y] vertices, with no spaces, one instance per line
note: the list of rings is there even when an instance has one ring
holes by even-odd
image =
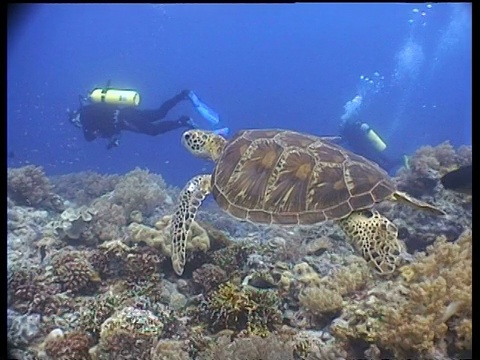
[[[369,210],[383,200],[402,200],[443,212],[396,189],[377,164],[322,138],[282,129],[242,130],[232,139],[188,130],[183,145],[213,160],[213,173],[193,177],[172,217],[172,265],[185,266],[189,229],[205,197],[233,217],[261,224],[311,225],[339,220],[349,239],[379,273],[394,271],[401,247],[397,228]]]

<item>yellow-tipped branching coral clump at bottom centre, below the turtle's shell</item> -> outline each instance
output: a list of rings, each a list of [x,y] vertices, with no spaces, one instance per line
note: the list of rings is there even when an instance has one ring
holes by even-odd
[[[231,329],[265,336],[281,323],[280,303],[276,290],[227,282],[210,293],[200,316],[206,318],[213,331]]]

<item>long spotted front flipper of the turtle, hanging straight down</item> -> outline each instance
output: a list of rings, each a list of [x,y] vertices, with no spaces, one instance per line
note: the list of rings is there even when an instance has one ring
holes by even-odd
[[[210,191],[211,175],[198,175],[190,179],[180,192],[177,209],[170,226],[172,266],[178,275],[182,275],[185,267],[185,251],[190,235],[190,226],[202,201],[210,194]]]

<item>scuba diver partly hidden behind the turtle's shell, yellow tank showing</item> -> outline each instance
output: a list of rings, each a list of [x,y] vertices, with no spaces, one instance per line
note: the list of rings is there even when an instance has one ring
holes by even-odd
[[[404,165],[405,157],[395,158],[388,154],[387,145],[382,138],[365,122],[344,121],[340,125],[341,141],[353,152],[366,157],[388,173]]]

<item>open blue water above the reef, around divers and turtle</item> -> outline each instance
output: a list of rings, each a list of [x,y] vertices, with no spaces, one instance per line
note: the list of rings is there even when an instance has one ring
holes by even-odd
[[[231,132],[280,127],[335,135],[346,104],[395,153],[471,144],[471,5],[30,5],[9,9],[12,167],[49,175],[135,167],[183,185],[211,164],[181,130],[88,143],[66,108],[95,87],[134,88],[142,108],[193,89]],[[377,74],[375,74],[377,73]],[[361,76],[363,77],[361,78]],[[367,80],[366,80],[367,79]],[[370,82],[370,80],[372,82]],[[182,103],[168,118],[194,118]]]

